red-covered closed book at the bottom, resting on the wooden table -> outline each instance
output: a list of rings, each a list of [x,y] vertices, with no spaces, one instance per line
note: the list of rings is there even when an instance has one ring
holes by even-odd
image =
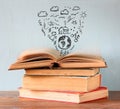
[[[19,97],[71,103],[83,103],[92,100],[107,98],[108,89],[106,87],[99,87],[98,89],[90,92],[61,92],[19,88]]]

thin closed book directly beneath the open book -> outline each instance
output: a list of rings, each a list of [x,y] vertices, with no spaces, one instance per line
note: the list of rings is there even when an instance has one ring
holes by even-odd
[[[56,69],[25,69],[25,74],[27,75],[58,75],[58,76],[94,76],[100,71],[99,68],[56,68]]]

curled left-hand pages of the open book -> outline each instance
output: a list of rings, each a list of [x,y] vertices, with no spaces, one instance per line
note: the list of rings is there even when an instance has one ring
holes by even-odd
[[[27,62],[33,60],[54,60],[60,58],[60,53],[54,49],[30,49],[24,51],[17,59],[17,62]]]

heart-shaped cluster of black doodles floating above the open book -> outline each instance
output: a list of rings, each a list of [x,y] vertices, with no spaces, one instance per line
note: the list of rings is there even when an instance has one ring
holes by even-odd
[[[79,6],[52,6],[49,12],[38,12],[38,23],[44,36],[52,41],[61,55],[66,55],[79,41],[86,17],[86,11]]]

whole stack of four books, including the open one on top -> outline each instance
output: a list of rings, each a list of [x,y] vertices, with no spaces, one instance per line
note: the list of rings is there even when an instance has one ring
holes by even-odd
[[[100,73],[106,66],[101,56],[43,49],[24,51],[9,70],[25,70],[19,97],[82,103],[108,97]]]

